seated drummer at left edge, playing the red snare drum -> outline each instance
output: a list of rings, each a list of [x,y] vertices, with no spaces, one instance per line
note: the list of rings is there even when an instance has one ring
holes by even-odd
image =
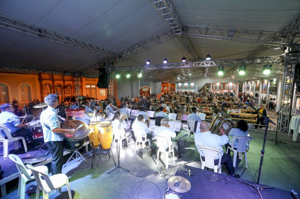
[[[0,113],[0,123],[4,124],[12,137],[28,137],[29,142],[27,146],[32,146],[33,147],[33,138],[32,138],[32,133],[28,127],[30,124],[22,124],[19,120],[19,117],[13,114],[13,106],[9,103],[6,104],[1,104],[0,105],[1,113]],[[4,138],[7,139],[7,136],[3,134]],[[23,143],[21,143],[22,145]]]

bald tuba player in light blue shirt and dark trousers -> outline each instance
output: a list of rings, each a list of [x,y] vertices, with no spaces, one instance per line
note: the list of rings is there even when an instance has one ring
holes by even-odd
[[[223,145],[227,144],[229,139],[228,136],[224,134],[223,128],[220,128],[220,132],[222,136],[219,136],[217,134],[212,134],[209,130],[209,125],[207,122],[201,122],[200,124],[200,132],[197,132],[195,134],[195,145],[199,152],[199,146],[211,146],[214,148],[217,148],[221,151],[221,157],[217,155],[214,158],[214,164],[217,165],[219,163],[219,158],[221,158],[221,164],[224,164],[226,166],[226,169],[230,176],[233,177],[240,177],[238,174],[235,174],[235,170],[233,167],[232,159],[229,154],[226,154],[223,152]],[[203,161],[205,161],[204,154],[201,151],[201,158]]]

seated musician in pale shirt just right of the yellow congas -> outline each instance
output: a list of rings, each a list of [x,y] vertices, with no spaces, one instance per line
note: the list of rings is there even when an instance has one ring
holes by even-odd
[[[117,111],[115,113],[115,120],[112,121],[114,136],[117,136],[117,140],[119,140],[118,138],[125,136],[128,137],[128,143],[130,143],[131,140],[134,140],[135,142],[136,139],[132,131],[125,131],[125,129],[127,129],[127,123],[125,122],[125,118],[122,118],[122,120],[120,120],[120,115],[120,112]],[[123,140],[122,146],[127,147],[126,140]]]

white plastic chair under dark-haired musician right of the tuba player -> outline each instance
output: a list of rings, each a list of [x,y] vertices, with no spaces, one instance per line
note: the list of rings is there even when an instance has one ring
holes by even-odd
[[[238,148],[237,150],[234,149],[234,142],[235,140],[238,140]],[[242,158],[242,153],[245,154],[245,161],[246,161],[246,168],[247,168],[247,149],[249,149],[249,144],[252,140],[252,137],[250,136],[235,136],[232,138],[232,146],[227,148],[226,153],[228,153],[228,150],[232,150],[233,151],[233,166],[235,167],[236,165],[236,158],[238,155],[238,152],[241,153],[240,154],[240,159]]]

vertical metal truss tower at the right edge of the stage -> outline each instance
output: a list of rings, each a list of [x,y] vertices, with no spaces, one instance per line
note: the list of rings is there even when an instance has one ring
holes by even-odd
[[[278,121],[279,131],[287,132],[292,113],[293,93],[295,84],[295,65],[300,62],[300,53],[293,52],[295,45],[288,47],[284,58],[284,71],[281,86],[281,105],[283,106]]]

